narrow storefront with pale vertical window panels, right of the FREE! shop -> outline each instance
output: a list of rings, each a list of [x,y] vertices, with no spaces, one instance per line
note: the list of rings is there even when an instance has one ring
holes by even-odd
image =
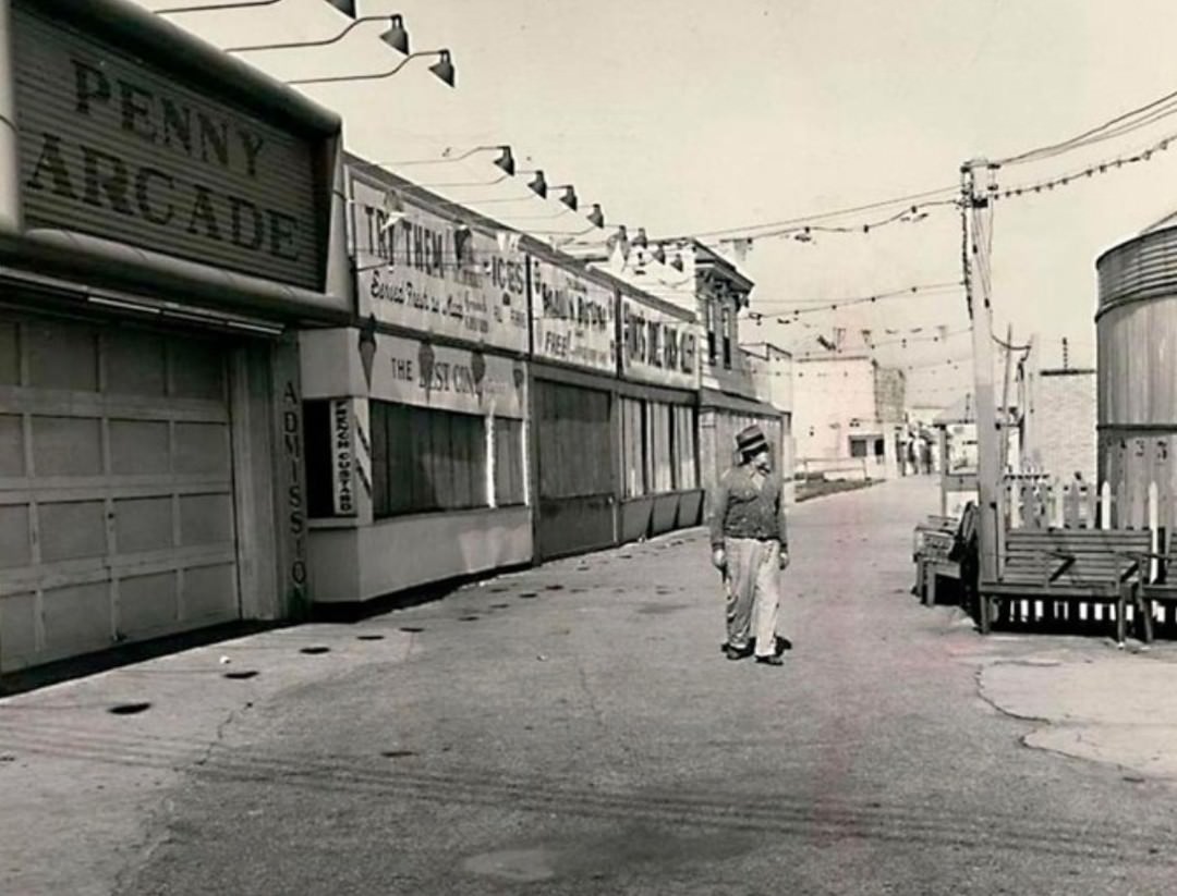
[[[699,523],[694,315],[636,292],[620,300],[621,541]]]

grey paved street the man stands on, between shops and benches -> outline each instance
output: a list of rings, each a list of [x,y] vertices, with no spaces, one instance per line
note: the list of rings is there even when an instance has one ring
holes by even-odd
[[[5,891],[1177,891],[1172,781],[1038,748],[1049,713],[983,687],[1137,657],[919,606],[935,504],[912,479],[796,508],[783,668],[722,656],[692,530],[0,703],[0,796],[69,848],[9,814]],[[1144,662],[1168,680],[1172,658]]]

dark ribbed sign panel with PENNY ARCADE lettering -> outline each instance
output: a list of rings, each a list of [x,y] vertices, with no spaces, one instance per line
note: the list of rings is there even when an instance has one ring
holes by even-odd
[[[13,25],[26,228],[322,288],[312,141],[24,5]]]

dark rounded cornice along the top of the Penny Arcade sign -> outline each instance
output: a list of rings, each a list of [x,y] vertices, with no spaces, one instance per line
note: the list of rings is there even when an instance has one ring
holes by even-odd
[[[319,135],[343,129],[337,113],[131,0],[36,0],[29,8],[79,31],[107,35],[145,61],[186,74],[274,123]]]

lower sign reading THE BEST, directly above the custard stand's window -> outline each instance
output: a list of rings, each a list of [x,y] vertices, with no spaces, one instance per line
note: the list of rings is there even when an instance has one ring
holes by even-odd
[[[465,414],[526,416],[523,361],[383,333],[375,339],[373,399]]]

